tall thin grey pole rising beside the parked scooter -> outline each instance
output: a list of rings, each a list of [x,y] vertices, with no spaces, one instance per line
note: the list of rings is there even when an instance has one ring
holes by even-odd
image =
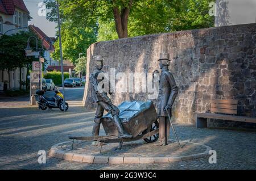
[[[66,111],[66,103],[65,103],[65,86],[64,86],[64,71],[63,71],[63,54],[62,54],[62,45],[61,45],[61,28],[60,28],[60,10],[59,10],[59,2],[57,3],[57,17],[58,17],[58,27],[59,27],[59,44],[60,44],[60,62],[61,62],[61,82],[63,89],[63,110]]]

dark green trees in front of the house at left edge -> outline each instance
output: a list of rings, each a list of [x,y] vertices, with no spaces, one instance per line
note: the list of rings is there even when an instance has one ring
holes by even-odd
[[[34,57],[26,57],[24,49],[27,47],[27,40],[30,36],[35,35],[32,32],[19,32],[15,35],[3,35],[0,37],[1,70],[7,70],[10,73],[10,71],[13,71],[16,68],[21,69],[24,66],[29,67],[29,65],[32,64],[32,61],[38,61],[38,58],[36,59]],[[39,48],[40,45],[42,45],[42,41],[39,41]],[[31,39],[30,46],[31,48],[36,47],[35,39]],[[21,85],[22,83],[20,79],[20,89]]]

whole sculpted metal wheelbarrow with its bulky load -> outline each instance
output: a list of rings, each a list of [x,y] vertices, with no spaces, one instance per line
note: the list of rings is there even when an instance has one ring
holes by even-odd
[[[113,117],[107,113],[102,117],[102,125],[106,136],[90,136],[90,137],[75,137],[70,136],[69,139],[82,140],[82,141],[95,141],[98,142],[119,142],[118,149],[122,148],[123,142],[130,142],[136,140],[144,140],[148,143],[158,140],[159,124],[158,115],[155,106],[151,101],[142,102],[138,100],[126,101],[118,106],[119,118],[125,131],[133,138],[118,138],[117,127],[115,126]],[[102,145],[102,144],[100,144]],[[73,148],[73,144],[72,144]]]

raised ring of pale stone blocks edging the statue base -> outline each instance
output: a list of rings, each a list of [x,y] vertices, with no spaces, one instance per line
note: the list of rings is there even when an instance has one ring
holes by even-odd
[[[172,140],[174,141],[174,140]],[[83,162],[83,163],[97,163],[97,164],[135,164],[135,163],[171,163],[171,162],[179,162],[189,159],[197,159],[202,157],[207,157],[209,155],[210,148],[204,144],[198,144],[195,142],[190,141],[180,141],[183,144],[193,144],[195,146],[201,146],[205,149],[205,151],[196,154],[189,154],[189,155],[163,155],[161,157],[152,157],[152,156],[114,156],[114,155],[102,155],[102,154],[95,154],[95,153],[88,153],[88,151],[82,151],[86,154],[76,153],[73,150],[65,150],[61,149],[60,145],[68,145],[72,144],[72,141],[65,141],[59,144],[53,145],[51,150],[49,151],[48,155],[53,158],[63,159],[66,161],[73,161],[73,162]],[[175,143],[176,144],[176,143]]]

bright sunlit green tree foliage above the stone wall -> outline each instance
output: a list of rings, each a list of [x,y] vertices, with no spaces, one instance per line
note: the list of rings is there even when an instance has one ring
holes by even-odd
[[[56,21],[56,3],[45,0]],[[96,41],[213,27],[214,0],[59,0],[64,58],[75,62]],[[59,44],[53,56],[59,59]]]

